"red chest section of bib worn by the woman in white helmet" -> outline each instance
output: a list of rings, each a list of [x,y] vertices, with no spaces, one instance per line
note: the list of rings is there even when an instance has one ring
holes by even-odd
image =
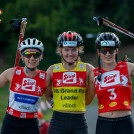
[[[42,96],[45,88],[45,77],[28,78],[23,75],[15,75],[10,89],[16,93]]]

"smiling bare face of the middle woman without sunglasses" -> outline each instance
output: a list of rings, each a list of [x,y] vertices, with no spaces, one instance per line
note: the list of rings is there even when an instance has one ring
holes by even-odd
[[[61,54],[68,63],[72,63],[77,59],[78,51],[78,47],[63,47]]]

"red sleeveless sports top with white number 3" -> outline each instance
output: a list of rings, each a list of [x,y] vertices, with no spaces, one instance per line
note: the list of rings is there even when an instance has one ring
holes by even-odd
[[[126,62],[119,62],[110,71],[101,68],[102,77],[99,82],[98,68],[94,69],[95,89],[98,98],[99,113],[114,110],[131,110],[132,83],[129,80]]]

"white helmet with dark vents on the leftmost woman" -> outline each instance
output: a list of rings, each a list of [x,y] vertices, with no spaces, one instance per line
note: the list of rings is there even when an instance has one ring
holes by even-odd
[[[44,46],[41,41],[37,40],[36,38],[27,38],[26,40],[22,41],[20,44],[19,51],[22,53],[27,48],[35,48],[43,53]]]

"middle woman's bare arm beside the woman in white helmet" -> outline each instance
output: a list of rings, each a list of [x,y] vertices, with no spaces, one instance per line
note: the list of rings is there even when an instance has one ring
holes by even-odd
[[[52,73],[53,73],[53,66],[50,66],[47,69],[47,76],[46,76],[46,90],[44,92],[44,95],[49,102],[50,96],[53,94],[52,91]]]

